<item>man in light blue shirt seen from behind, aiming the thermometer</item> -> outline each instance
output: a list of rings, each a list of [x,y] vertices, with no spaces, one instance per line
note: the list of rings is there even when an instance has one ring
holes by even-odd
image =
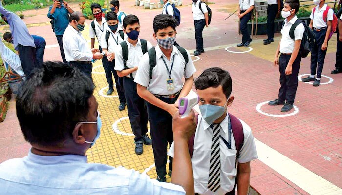
[[[28,156],[0,164],[0,194],[193,195],[188,140],[194,112],[173,116],[173,184],[158,182],[123,167],[87,163],[102,124],[94,88],[91,78],[63,62],[45,62],[23,83],[17,117],[32,148]]]

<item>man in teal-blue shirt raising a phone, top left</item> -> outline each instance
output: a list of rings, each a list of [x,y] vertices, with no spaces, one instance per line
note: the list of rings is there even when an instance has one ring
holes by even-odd
[[[74,10],[69,7],[69,4],[66,1],[53,0],[53,5],[50,6],[49,12],[47,13],[47,17],[53,19],[53,25],[55,27],[54,32],[60,46],[63,62],[66,64],[67,61],[65,59],[62,38],[66,27],[69,25],[69,15],[73,12]]]

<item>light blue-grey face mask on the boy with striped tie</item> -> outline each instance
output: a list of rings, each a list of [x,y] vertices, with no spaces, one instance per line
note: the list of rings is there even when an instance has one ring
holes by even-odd
[[[229,98],[228,98],[229,99]],[[226,105],[228,99],[224,106],[215,106],[211,104],[204,104],[199,106],[203,119],[208,123],[212,124],[217,118],[221,117],[224,112],[226,112]]]

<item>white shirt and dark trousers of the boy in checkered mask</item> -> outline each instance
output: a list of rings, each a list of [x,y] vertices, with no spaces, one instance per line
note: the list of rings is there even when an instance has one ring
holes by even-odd
[[[147,87],[148,91],[150,91],[150,93],[152,93],[158,99],[168,104],[173,104],[177,100],[179,93],[183,87],[182,78],[190,78],[196,72],[196,68],[193,65],[192,59],[188,51],[187,54],[189,61],[187,64],[185,64],[184,57],[175,46],[173,46],[170,60],[168,60],[166,56],[163,54],[163,52],[160,50],[159,45],[155,46],[155,50],[157,60],[156,66],[153,68],[152,71],[152,79],[150,80],[149,75],[149,55],[148,53],[146,53],[140,60],[139,68],[135,76],[134,82],[144,87]],[[169,78],[173,79],[174,87],[169,87],[168,89],[167,80]],[[149,102],[147,102],[147,112],[150,121],[150,133],[152,138],[152,147],[156,171],[157,175],[160,178],[163,178],[166,175],[168,142],[171,145],[173,141],[172,116],[167,111],[157,106],[154,106]],[[171,157],[169,163],[169,170],[172,170]]]

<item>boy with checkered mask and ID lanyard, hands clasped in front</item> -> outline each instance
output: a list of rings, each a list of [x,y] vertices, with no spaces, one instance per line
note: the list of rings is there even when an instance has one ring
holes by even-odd
[[[167,147],[173,140],[172,115],[178,111],[178,98],[190,92],[196,68],[189,52],[173,45],[177,32],[176,20],[172,16],[157,15],[153,30],[158,45],[140,60],[134,82],[139,96],[147,101],[157,180],[166,181]],[[169,176],[171,170],[172,158]]]

